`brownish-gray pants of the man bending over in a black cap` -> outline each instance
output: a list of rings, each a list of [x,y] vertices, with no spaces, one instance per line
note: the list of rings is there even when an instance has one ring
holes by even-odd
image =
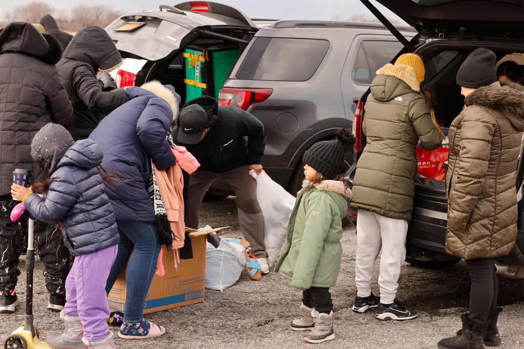
[[[249,176],[249,166],[241,166],[224,173],[196,170],[189,175],[188,200],[185,206],[185,226],[198,228],[202,198],[216,178],[222,178],[233,187],[236,195],[238,223],[256,257],[266,258],[264,220],[256,196],[256,181]]]

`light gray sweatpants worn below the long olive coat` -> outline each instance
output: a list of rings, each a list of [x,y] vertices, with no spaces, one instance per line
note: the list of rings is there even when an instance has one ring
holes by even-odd
[[[358,210],[357,254],[355,260],[355,284],[357,296],[371,294],[371,279],[380,248],[380,303],[390,304],[395,300],[400,267],[406,259],[406,236],[408,222],[379,214]]]

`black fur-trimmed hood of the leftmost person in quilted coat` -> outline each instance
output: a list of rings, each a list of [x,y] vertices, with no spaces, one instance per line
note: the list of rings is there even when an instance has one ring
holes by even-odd
[[[7,52],[28,54],[53,65],[62,58],[60,43],[52,35],[25,22],[9,23],[0,32],[0,53]]]

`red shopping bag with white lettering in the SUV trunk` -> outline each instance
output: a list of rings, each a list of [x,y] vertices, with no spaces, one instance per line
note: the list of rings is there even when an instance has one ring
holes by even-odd
[[[449,148],[436,148],[435,150],[425,150],[418,146],[415,149],[417,155],[419,176],[429,179],[443,181],[446,177],[447,158]]]

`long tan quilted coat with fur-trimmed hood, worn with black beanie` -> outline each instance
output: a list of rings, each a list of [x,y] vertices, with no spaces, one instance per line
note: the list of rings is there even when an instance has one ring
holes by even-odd
[[[464,259],[505,256],[517,237],[524,88],[503,85],[468,95],[450,126],[446,252]]]

